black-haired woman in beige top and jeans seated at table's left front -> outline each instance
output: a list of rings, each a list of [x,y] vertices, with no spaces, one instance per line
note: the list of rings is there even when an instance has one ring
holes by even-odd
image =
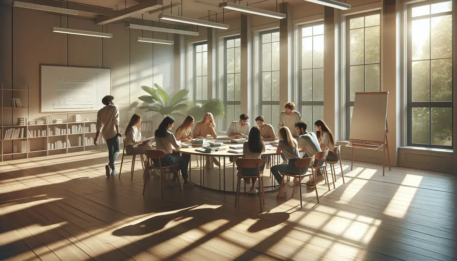
[[[187,166],[189,165],[189,157],[185,158],[173,155],[173,148],[175,148],[175,150],[181,149],[181,145],[178,144],[175,135],[170,132],[170,129],[173,128],[173,123],[175,123],[175,119],[170,116],[167,116],[162,120],[159,128],[157,128],[154,133],[155,146],[157,150],[162,150],[165,152],[165,157],[160,159],[160,164],[162,166],[170,166],[179,163],[179,170],[181,170],[182,179],[184,180],[183,187],[187,188],[195,184],[187,180]],[[159,165],[159,160],[153,159],[153,162],[154,165]],[[175,167],[171,168],[170,172],[173,173],[173,178],[172,180],[168,181],[168,186],[176,184],[176,179],[178,178],[178,171]]]

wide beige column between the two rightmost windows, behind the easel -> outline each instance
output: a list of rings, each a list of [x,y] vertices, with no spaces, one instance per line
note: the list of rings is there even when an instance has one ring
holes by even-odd
[[[401,66],[399,53],[400,28],[397,6],[400,0],[384,0],[381,24],[381,91],[388,91],[387,121],[391,165],[397,165],[397,149],[401,143]],[[386,161],[387,162],[387,161]]]

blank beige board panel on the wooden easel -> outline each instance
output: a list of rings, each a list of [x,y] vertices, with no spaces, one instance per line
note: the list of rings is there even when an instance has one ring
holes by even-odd
[[[384,142],[387,91],[356,92],[349,139]]]

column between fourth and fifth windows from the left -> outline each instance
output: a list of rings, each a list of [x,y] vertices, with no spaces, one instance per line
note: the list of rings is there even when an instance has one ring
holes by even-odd
[[[340,120],[340,30],[338,10],[324,7],[324,122],[341,140]],[[311,123],[313,125],[314,123]]]

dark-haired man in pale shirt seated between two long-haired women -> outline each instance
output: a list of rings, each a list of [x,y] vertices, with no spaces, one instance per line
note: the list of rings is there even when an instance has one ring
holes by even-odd
[[[303,148],[305,150],[305,153],[303,154],[303,158],[308,158],[314,156],[317,152],[321,151],[319,147],[319,141],[317,140],[316,134],[313,132],[307,132],[306,128],[307,125],[304,122],[298,122],[295,123],[295,128],[297,129],[297,132],[300,134],[300,138],[298,139],[298,148]],[[314,160],[313,166],[317,166],[318,162],[317,160]],[[324,160],[320,160],[319,166],[324,164]],[[306,169],[308,171],[308,168]],[[316,178],[316,184],[320,181],[324,180],[324,170],[319,169],[318,170],[318,175]],[[306,182],[306,186],[308,188],[313,188],[314,187],[314,181],[310,180]]]

